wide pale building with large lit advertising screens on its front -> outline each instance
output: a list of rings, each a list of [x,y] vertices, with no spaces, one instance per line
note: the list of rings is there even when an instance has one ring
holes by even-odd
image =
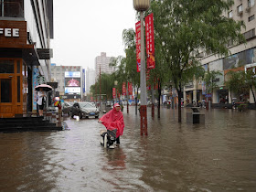
[[[51,66],[51,80],[58,82],[59,96],[64,100],[82,99],[81,66]]]

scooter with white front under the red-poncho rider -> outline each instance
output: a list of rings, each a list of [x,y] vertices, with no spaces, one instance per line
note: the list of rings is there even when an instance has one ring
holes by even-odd
[[[114,143],[116,141],[116,131],[117,129],[101,131],[101,145],[104,148],[114,149]]]

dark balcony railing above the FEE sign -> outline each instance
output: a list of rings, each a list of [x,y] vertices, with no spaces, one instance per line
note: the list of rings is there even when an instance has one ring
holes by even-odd
[[[23,6],[19,2],[0,2],[0,17],[24,17]]]

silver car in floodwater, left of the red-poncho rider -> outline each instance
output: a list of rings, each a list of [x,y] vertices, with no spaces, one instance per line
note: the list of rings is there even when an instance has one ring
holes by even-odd
[[[95,118],[99,118],[99,109],[95,106],[93,102],[75,102],[73,106],[70,108],[70,115],[74,117],[77,115],[81,118],[89,118],[94,116]]]

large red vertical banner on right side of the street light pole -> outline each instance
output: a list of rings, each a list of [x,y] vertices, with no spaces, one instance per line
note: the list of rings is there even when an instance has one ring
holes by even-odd
[[[146,16],[144,20],[147,69],[155,69],[155,38],[153,13]]]

